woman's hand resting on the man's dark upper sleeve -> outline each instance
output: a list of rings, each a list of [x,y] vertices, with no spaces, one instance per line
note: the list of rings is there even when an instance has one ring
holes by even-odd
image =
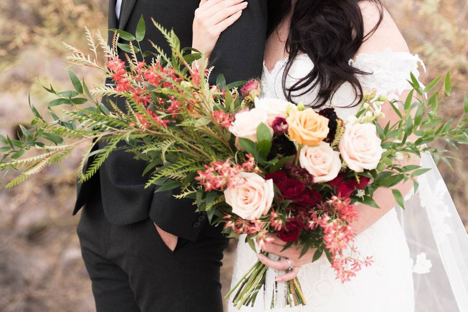
[[[221,32],[238,20],[246,7],[245,0],[201,0],[195,10],[192,47],[209,58]]]

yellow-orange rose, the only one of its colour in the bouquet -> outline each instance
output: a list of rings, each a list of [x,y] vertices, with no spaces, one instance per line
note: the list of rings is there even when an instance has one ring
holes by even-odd
[[[291,110],[286,121],[289,125],[289,136],[302,145],[318,145],[330,131],[329,120],[315,113],[312,108],[303,111]]]

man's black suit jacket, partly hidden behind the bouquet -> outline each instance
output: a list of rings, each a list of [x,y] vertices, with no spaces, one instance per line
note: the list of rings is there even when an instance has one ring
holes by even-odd
[[[173,28],[180,39],[181,47],[192,44],[192,24],[199,0],[123,0],[120,19],[115,14],[116,0],[109,3],[109,28],[123,29],[135,34],[141,15],[145,18],[147,31],[143,51],[153,51],[148,39],[169,52],[163,36],[154,27],[151,18],[167,29]],[[211,79],[223,73],[227,82],[259,78],[262,72],[263,52],[267,28],[267,0],[249,0],[242,17],[224,31],[212,52],[211,64],[215,66]],[[110,33],[109,41],[113,33]],[[124,52],[119,51],[121,59]],[[169,53],[170,55],[170,53]],[[107,81],[111,83],[111,81]],[[114,99],[124,109],[121,99]],[[92,159],[88,161],[90,163]],[[78,198],[74,214],[100,188],[104,213],[115,225],[132,224],[148,216],[164,231],[190,240],[195,240],[201,229],[213,232],[206,214],[195,213],[193,201],[177,200],[177,191],[154,193],[155,187],[144,188],[148,176],[141,176],[146,163],[137,161],[133,155],[115,151],[99,169],[99,173],[83,185],[78,184]]]

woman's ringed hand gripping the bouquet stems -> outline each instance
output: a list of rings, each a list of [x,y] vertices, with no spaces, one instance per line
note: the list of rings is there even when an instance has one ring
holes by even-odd
[[[299,258],[302,248],[296,250],[296,247],[292,245],[291,247],[289,247],[288,249],[282,252],[286,243],[282,241],[281,239],[279,239],[276,235],[272,235],[271,237],[273,238],[273,241],[270,243],[267,243],[267,242],[260,243],[260,248],[267,253],[281,256],[283,257],[283,259],[281,259],[281,261],[277,261],[277,260],[270,259],[264,254],[257,254],[257,257],[260,260],[260,262],[278,271],[288,270],[289,269],[288,261],[284,259],[286,257],[291,261],[292,267],[294,268],[292,272],[276,277],[276,281],[286,282],[286,281],[292,280],[294,277],[297,276],[297,273],[299,273],[300,267],[302,267],[304,264],[308,264],[312,262],[313,254],[315,253],[316,249],[309,249],[306,252],[306,254],[304,254],[302,257]]]

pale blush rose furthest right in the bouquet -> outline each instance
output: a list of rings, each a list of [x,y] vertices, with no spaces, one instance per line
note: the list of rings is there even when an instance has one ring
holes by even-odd
[[[340,140],[340,153],[348,167],[355,172],[372,170],[382,158],[382,140],[372,123],[348,124]]]

